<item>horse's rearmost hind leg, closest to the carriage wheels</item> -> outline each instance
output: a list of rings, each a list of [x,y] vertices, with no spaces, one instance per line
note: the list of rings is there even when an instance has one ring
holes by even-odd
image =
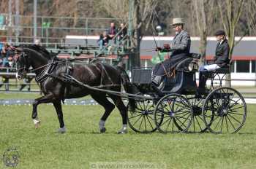
[[[124,106],[124,102],[121,100],[119,96],[112,95],[110,96],[110,98],[112,98],[112,100],[114,101],[123,119],[123,127],[121,128],[121,130],[118,131],[118,134],[127,133],[127,107]]]

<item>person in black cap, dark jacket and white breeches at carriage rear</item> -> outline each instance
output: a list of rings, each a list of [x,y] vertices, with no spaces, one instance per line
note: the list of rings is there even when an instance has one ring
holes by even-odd
[[[223,66],[227,66],[229,63],[229,52],[230,47],[227,43],[225,31],[217,31],[215,34],[217,38],[217,47],[215,51],[215,56],[213,58],[213,64],[200,66],[199,68],[199,87],[198,92],[204,93],[206,81],[208,79],[208,72],[215,71],[217,68],[221,68]]]

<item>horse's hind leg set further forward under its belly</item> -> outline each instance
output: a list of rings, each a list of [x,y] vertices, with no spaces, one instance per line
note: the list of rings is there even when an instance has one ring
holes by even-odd
[[[97,103],[99,103],[99,105],[103,106],[105,109],[105,112],[99,121],[99,132],[105,133],[105,131],[106,131],[105,121],[108,119],[108,116],[110,115],[111,111],[113,111],[113,109],[115,109],[115,105],[113,105],[113,103],[108,101],[108,98],[106,97],[105,94],[102,94],[102,95],[92,94],[91,97],[95,101],[97,101]]]

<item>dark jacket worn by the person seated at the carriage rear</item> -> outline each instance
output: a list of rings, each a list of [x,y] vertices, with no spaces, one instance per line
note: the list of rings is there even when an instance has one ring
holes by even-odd
[[[230,46],[227,43],[227,39],[225,39],[221,44],[220,42],[217,43],[214,63],[216,63],[219,67],[226,66],[229,63],[229,55]]]

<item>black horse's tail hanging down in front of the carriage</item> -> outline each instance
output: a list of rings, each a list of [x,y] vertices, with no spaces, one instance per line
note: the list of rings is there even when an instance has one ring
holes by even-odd
[[[136,87],[129,81],[127,72],[121,66],[117,66],[117,70],[121,74],[121,82],[124,86],[124,90],[129,94],[135,94]],[[131,97],[129,97],[129,109],[135,111],[135,99]]]

